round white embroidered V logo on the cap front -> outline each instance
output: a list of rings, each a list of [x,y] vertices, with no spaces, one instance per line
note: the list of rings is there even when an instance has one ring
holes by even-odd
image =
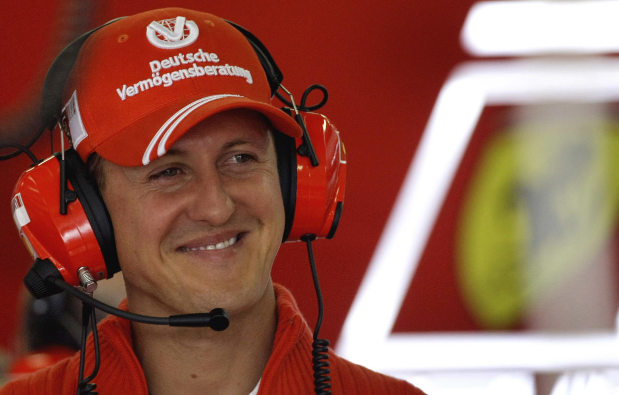
[[[157,48],[173,50],[196,41],[198,28],[193,20],[185,17],[152,21],[146,27],[146,37]]]

